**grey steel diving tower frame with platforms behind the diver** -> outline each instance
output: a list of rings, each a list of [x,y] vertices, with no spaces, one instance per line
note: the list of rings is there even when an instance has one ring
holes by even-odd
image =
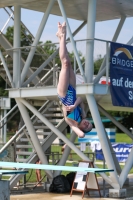
[[[28,87],[33,80],[38,80],[38,74],[55,58],[58,54],[58,50],[54,52],[47,60],[42,63],[38,69],[33,71],[30,75],[27,74],[30,69],[30,65],[37,49],[41,34],[45,30],[45,26],[50,14],[62,15],[64,21],[67,24],[67,31],[69,34],[68,42],[71,43],[73,52],[78,63],[80,74],[83,77],[84,84],[77,85],[77,95],[83,96],[84,100],[88,104],[96,130],[98,132],[98,137],[102,146],[104,157],[107,163],[108,168],[114,169],[113,173],[110,173],[108,177],[106,174],[101,174],[102,177],[108,182],[113,188],[120,189],[123,187],[123,184],[127,178],[128,172],[133,165],[133,150],[130,152],[129,158],[123,170],[121,170],[119,163],[114,154],[111,153],[112,147],[107,138],[104,126],[102,124],[100,113],[102,112],[105,116],[108,116],[116,126],[121,128],[122,131],[127,133],[132,139],[132,134],[123,127],[119,122],[113,119],[108,113],[107,110],[115,109],[110,100],[109,85],[100,85],[99,79],[106,74],[108,80],[109,76],[109,41],[106,42],[106,56],[101,65],[101,68],[93,80],[94,75],[94,66],[93,66],[93,56],[94,56],[94,41],[95,41],[95,22],[96,21],[105,21],[112,19],[120,19],[118,27],[115,31],[112,41],[116,42],[117,38],[121,32],[123,24],[126,17],[133,15],[133,3],[132,0],[1,0],[0,7],[14,6],[14,43],[13,48],[6,49],[7,52],[12,52],[13,55],[13,76],[11,76],[6,62],[4,62],[4,57],[1,54],[1,60],[3,59],[4,69],[6,71],[7,77],[11,84],[11,89],[9,89],[9,97],[14,98],[20,110],[20,113],[23,117],[25,125],[28,129],[29,135],[31,136],[32,143],[35,147],[37,154],[39,155],[42,163],[47,164],[47,158],[44,155],[44,149],[39,143],[39,140],[36,136],[36,132],[33,126],[33,123],[30,119],[30,116],[27,112],[27,108],[40,119],[45,125],[47,125],[54,135],[62,139],[67,145],[68,148],[65,150],[64,157],[61,158],[59,165],[64,165],[67,159],[67,156],[70,153],[70,149],[74,150],[81,159],[89,160],[78,148],[75,147],[73,141],[76,138],[75,133],[72,133],[70,140],[68,140],[61,132],[60,129],[55,127],[43,114],[41,114],[37,109],[28,102],[28,99],[42,99],[42,100],[56,100],[57,92],[56,86],[39,86]],[[37,10],[44,12],[44,16],[38,28],[35,39],[30,47],[29,54],[26,58],[26,61],[23,62],[21,59],[21,51],[24,47],[20,46],[20,25],[21,25],[21,8]],[[68,18],[81,20],[82,24],[78,29],[72,33]],[[74,36],[84,27],[87,26],[87,32],[83,38],[86,38],[86,59],[85,59],[85,70],[81,60],[78,55],[78,51],[75,45]],[[53,26],[55,26],[53,24]],[[133,43],[131,38],[128,42],[129,45]],[[40,81],[40,80],[38,80]],[[124,108],[128,110],[128,108]],[[122,110],[122,108],[117,108],[117,110]],[[133,111],[133,109],[130,109]],[[51,141],[47,143],[51,145]],[[45,145],[44,145],[45,146]],[[52,173],[51,171],[46,172],[49,178],[53,178],[58,175],[60,172]]]

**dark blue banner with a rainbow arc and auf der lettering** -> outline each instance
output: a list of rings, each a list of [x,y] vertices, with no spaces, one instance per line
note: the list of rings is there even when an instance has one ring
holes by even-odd
[[[133,107],[133,46],[111,43],[110,92],[114,106]]]

